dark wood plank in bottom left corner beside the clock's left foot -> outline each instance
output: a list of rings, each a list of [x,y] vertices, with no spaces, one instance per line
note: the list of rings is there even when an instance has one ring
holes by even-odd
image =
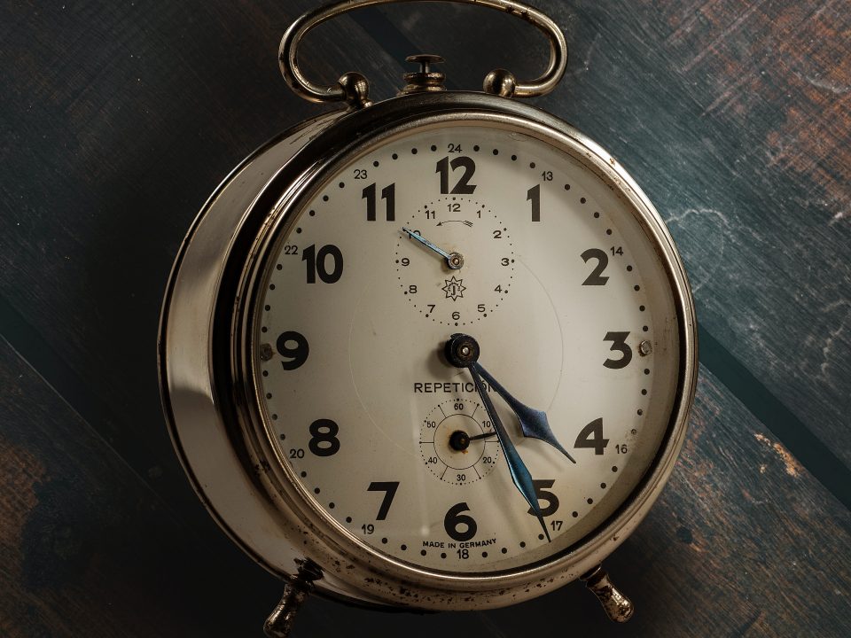
[[[0,424],[0,635],[237,635],[275,602],[277,581],[212,519],[186,525],[3,339]]]

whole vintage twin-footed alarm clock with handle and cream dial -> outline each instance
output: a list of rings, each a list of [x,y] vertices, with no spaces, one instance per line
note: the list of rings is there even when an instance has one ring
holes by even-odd
[[[377,609],[488,609],[581,578],[633,606],[601,561],[644,518],[686,433],[694,304],[660,215],[612,155],[488,74],[441,58],[373,103],[361,74],[301,72],[343,109],[293,126],[216,189],[177,255],[160,385],[177,455],[239,547],[285,580],[285,636],[311,593]]]

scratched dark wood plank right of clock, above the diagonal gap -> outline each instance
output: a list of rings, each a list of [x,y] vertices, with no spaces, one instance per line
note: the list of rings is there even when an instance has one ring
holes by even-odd
[[[628,167],[683,253],[704,329],[851,465],[847,4],[536,4],[571,47],[536,104]],[[494,13],[392,7],[392,37],[363,22],[397,58],[441,53],[454,87],[496,66],[540,73],[543,38]]]

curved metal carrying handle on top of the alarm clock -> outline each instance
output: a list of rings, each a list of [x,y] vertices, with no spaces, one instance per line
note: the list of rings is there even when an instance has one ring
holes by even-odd
[[[558,25],[548,16],[537,9],[514,2],[514,0],[420,0],[421,2],[455,2],[458,4],[473,4],[476,6],[498,9],[508,12],[517,18],[526,20],[529,24],[543,31],[550,41],[550,65],[544,74],[531,82],[518,81],[510,71],[495,69],[484,81],[484,89],[488,93],[503,97],[536,97],[549,93],[565,74],[567,66],[567,43],[565,35]],[[369,82],[362,75],[354,72],[344,74],[340,82],[335,84],[316,84],[310,82],[298,62],[299,44],[302,38],[312,28],[326,20],[336,18],[355,9],[377,4],[398,4],[410,0],[343,0],[334,4],[326,4],[312,12],[305,13],[295,20],[286,30],[281,39],[278,52],[278,62],[286,83],[296,95],[310,102],[347,102],[355,107],[368,106]]]

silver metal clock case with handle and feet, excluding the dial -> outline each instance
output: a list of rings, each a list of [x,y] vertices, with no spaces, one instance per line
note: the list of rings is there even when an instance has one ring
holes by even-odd
[[[506,96],[535,95],[555,86],[566,44],[550,19],[504,0],[469,0],[514,12],[550,35],[550,68],[542,82],[488,74],[489,92],[443,91],[432,57],[406,79],[400,97],[371,104],[368,84],[346,74],[332,87],[308,82],[296,48],[309,28],[379,0],[350,1],[302,17],[282,42],[285,77],[300,95],[341,100],[345,113],[327,113],[277,136],[243,161],[207,200],[193,222],[169,278],[160,320],[163,406],[183,468],[207,510],[246,553],[287,582],[267,633],[289,631],[308,592],[348,603],[440,611],[519,603],[582,577],[613,619],[632,606],[598,565],[650,510],[682,446],[697,377],[696,322],[691,291],[673,240],[644,193],[609,153],[575,128]],[[532,13],[530,13],[532,12]],[[531,18],[530,18],[531,16]],[[542,26],[543,25],[543,26]],[[651,468],[616,513],[572,548],[543,564],[476,576],[430,572],[371,549],[303,493],[269,443],[255,393],[248,330],[265,261],[301,205],[328,176],[366,149],[411,130],[478,124],[546,141],[606,183],[634,212],[656,247],[675,299],[680,387],[668,431]]]

